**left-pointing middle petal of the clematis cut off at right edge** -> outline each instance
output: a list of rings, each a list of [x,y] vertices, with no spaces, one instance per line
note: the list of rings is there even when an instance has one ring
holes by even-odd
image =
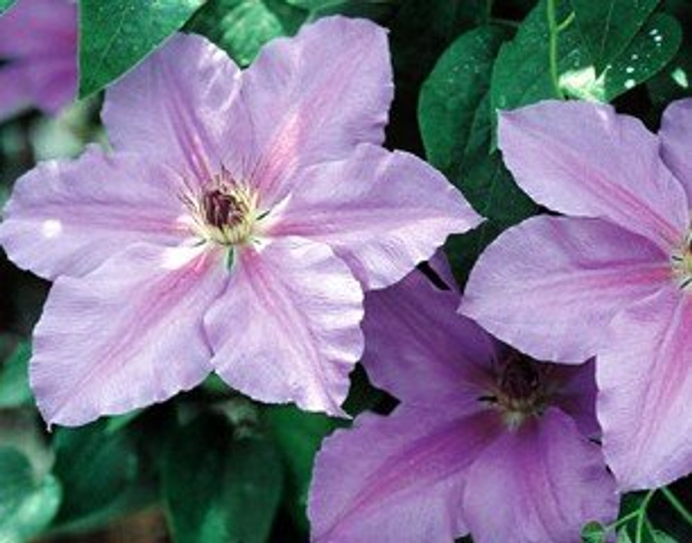
[[[460,311],[533,357],[580,363],[617,310],[670,276],[662,251],[619,226],[532,217],[482,253]]]

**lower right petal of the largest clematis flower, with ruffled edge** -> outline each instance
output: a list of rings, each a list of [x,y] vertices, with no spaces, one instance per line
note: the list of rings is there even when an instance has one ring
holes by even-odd
[[[363,352],[363,293],[326,245],[284,238],[246,248],[228,290],[206,314],[212,364],[264,402],[343,415]]]

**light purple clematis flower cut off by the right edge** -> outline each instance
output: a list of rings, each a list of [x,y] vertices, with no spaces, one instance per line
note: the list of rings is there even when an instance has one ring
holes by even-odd
[[[612,107],[545,102],[500,116],[536,202],[471,273],[462,312],[536,357],[597,354],[597,411],[621,488],[692,470],[692,100],[658,136]]]

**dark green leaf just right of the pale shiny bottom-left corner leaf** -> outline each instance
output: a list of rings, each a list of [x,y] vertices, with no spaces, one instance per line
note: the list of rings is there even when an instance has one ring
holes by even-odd
[[[53,473],[65,491],[56,524],[89,525],[133,490],[138,476],[134,443],[125,432],[109,431],[108,421],[57,429],[54,447]]]

